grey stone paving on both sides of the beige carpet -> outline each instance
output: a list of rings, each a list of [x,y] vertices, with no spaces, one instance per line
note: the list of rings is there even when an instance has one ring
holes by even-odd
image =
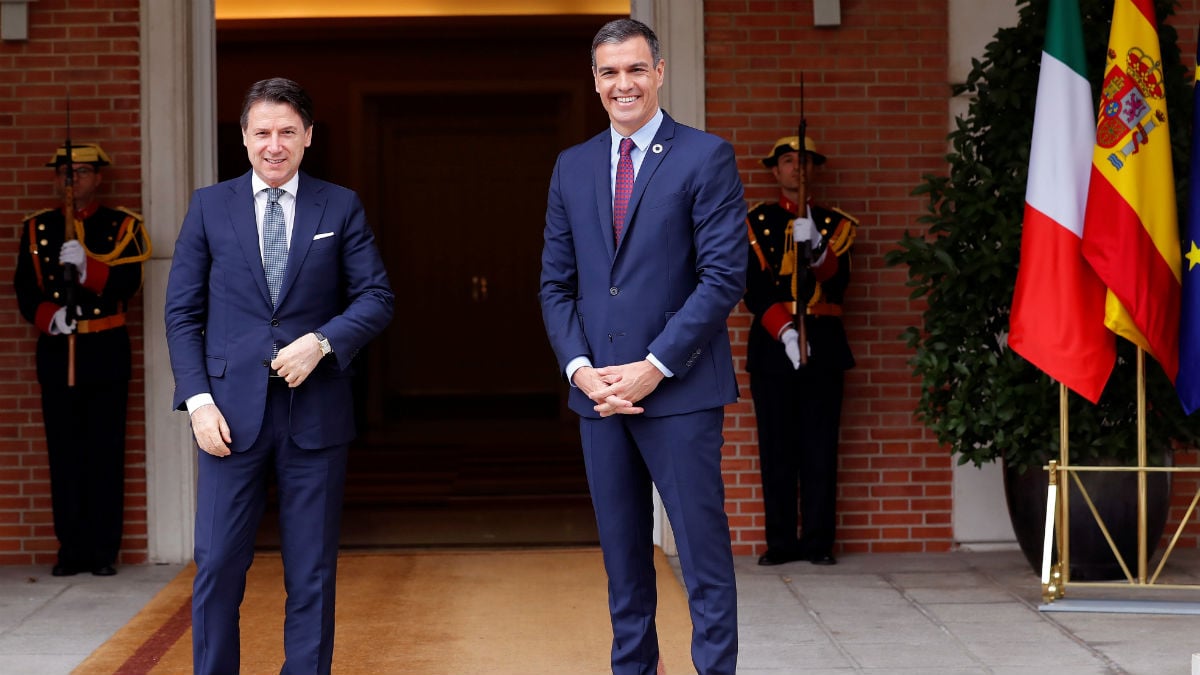
[[[1196,614],[1039,611],[1040,585],[1015,550],[854,555],[834,567],[737,565],[738,675],[1188,675],[1200,652]],[[179,571],[55,579],[41,568],[0,567],[0,675],[71,673]],[[1200,585],[1200,556],[1172,562],[1165,574]],[[1200,611],[1192,589],[1076,584],[1064,601]],[[1064,601],[1050,609],[1069,607]],[[348,664],[335,673],[358,675]]]

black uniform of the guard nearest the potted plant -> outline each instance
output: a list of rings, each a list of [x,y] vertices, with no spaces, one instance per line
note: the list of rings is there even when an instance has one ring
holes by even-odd
[[[760,204],[748,216],[750,263],[745,305],[754,313],[746,371],[758,422],[758,456],[767,519],[767,549],[784,560],[833,552],[838,497],[838,435],[842,381],[854,357],[841,322],[850,282],[850,250],[857,221],[812,205],[812,220],[828,250],[808,269],[799,289],[808,298],[808,364],[799,370],[779,336],[792,321],[792,275],[784,264],[785,243],[798,205],[784,199]],[[803,348],[803,346],[802,346]],[[802,537],[797,539],[797,476]]]

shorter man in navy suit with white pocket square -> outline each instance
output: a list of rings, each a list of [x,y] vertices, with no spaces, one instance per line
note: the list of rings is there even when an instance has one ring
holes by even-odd
[[[350,362],[392,313],[358,196],[300,173],[312,101],[265,79],[246,94],[252,171],[197,190],[167,282],[176,410],[199,446],[196,674],[239,671],[239,605],[274,470],[287,617],[282,674],[328,674]],[[274,277],[274,279],[271,279]]]

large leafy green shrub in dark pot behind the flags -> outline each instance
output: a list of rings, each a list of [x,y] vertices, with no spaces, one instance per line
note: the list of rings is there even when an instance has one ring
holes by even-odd
[[[1112,0],[1080,0],[1093,100],[1098,100],[1103,79],[1112,4]],[[907,265],[912,298],[926,303],[922,325],[904,333],[914,350],[913,374],[922,382],[916,414],[958,455],[959,464],[978,466],[1002,459],[1007,483],[1022,477],[1032,482],[1043,506],[1040,513],[1034,513],[1032,536],[1022,538],[1018,531],[1018,539],[1037,568],[1046,484],[1040,467],[1058,456],[1058,387],[1008,350],[1007,336],[1020,257],[1048,0],[1018,0],[1018,5],[1019,24],[1000,30],[983,59],[973,61],[966,83],[954,88],[955,94],[968,94],[971,103],[949,135],[948,174],[924,177],[913,192],[929,199],[929,213],[919,219],[925,229],[906,233],[898,247],[887,253],[887,262]],[[1156,10],[1176,191],[1184,204],[1192,83],[1180,62],[1176,31],[1164,20],[1174,12],[1174,2],[1156,0]],[[1117,365],[1099,404],[1092,405],[1075,394],[1069,396],[1073,464],[1135,464],[1135,348],[1124,340],[1118,342]],[[1146,381],[1148,447],[1166,449],[1172,443],[1194,447],[1196,424],[1189,423],[1170,381],[1150,358]],[[1163,521],[1165,500],[1169,494],[1162,508]],[[1024,506],[1031,503],[1025,497],[1019,501]],[[1019,514],[1012,515],[1014,528],[1020,527],[1015,521]],[[1080,555],[1075,530],[1082,531],[1082,520],[1072,518],[1072,571],[1076,578],[1082,577],[1075,573]],[[1091,522],[1090,515],[1086,521]],[[1158,534],[1152,533],[1152,545],[1157,539]],[[1136,548],[1135,542],[1133,546]]]

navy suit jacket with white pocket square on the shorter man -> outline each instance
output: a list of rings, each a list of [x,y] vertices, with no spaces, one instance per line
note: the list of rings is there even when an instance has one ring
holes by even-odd
[[[290,436],[301,448],[355,434],[350,359],[391,321],[388,273],[358,196],[300,173],[288,269],[272,309],[263,273],[251,173],[197,190],[167,282],[173,407],[209,392],[233,452],[257,438],[271,344],[319,330],[334,347],[293,392]]]

